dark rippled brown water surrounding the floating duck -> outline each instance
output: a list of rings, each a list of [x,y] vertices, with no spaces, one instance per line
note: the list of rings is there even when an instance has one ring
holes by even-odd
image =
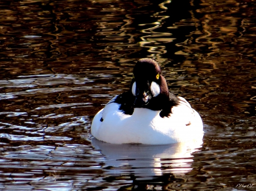
[[[253,0],[0,1],[0,190],[256,190],[255,12]],[[144,57],[201,114],[202,146],[90,135]]]

